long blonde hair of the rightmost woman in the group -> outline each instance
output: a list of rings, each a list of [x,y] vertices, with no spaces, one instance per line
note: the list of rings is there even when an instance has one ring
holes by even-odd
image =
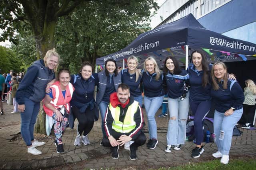
[[[212,75],[212,86],[214,90],[219,90],[219,85],[217,83],[217,80],[214,76],[214,66],[216,65],[222,65],[223,68],[226,70],[225,74],[224,74],[224,78],[223,78],[223,89],[227,89],[228,88],[228,71],[227,71],[227,67],[224,63],[222,63],[221,61],[217,61],[216,63],[213,64],[212,66],[212,71],[211,71],[211,75]]]

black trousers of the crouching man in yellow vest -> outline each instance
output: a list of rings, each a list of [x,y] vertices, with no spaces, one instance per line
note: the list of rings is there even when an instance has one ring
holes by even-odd
[[[121,135],[129,135],[129,133],[118,133],[116,131],[112,131],[112,134],[111,134],[116,140],[118,140],[118,138],[121,136]],[[139,146],[142,146],[144,145],[144,143],[146,142],[147,138],[145,136],[145,134],[143,132],[140,133],[140,135],[138,135],[138,137],[134,140],[134,143],[132,145],[134,145],[134,147],[138,148]],[[104,147],[112,147],[110,145],[110,142],[108,140],[108,137],[104,137],[102,139],[102,145]]]

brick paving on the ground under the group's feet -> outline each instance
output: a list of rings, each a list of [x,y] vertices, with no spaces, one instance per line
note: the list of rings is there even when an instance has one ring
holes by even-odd
[[[111,158],[110,149],[100,146],[102,139],[100,120],[94,123],[92,131],[89,133],[91,144],[88,146],[75,147],[73,145],[76,137],[76,129],[67,128],[63,135],[63,154],[56,152],[54,141],[45,141],[46,144],[37,147],[42,151],[41,155],[34,156],[27,153],[26,144],[23,140],[11,141],[20,133],[20,115],[10,113],[13,106],[7,106],[4,102],[4,113],[0,115],[0,169],[100,169],[100,168],[127,168],[138,166],[140,169],[156,168],[162,166],[177,166],[188,162],[199,162],[202,160],[214,160],[211,156],[216,151],[214,143],[206,143],[205,151],[200,158],[192,158],[191,150],[194,143],[186,141],[180,150],[172,150],[171,153],[164,151],[166,147],[166,131],[168,117],[158,118],[161,113],[159,109],[156,114],[158,125],[159,143],[154,150],[147,149],[146,145],[137,150],[137,160],[129,159],[129,151],[123,147],[119,150],[119,159]],[[145,113],[145,112],[144,112]],[[146,120],[146,114],[144,114]],[[77,123],[77,122],[76,122]],[[146,122],[147,124],[147,122]],[[76,127],[76,126],[75,126]],[[145,127],[145,132],[147,126]],[[256,131],[243,130],[241,137],[232,138],[230,159],[237,156],[256,156]],[[145,133],[148,138],[148,133]],[[65,166],[63,166],[65,165]]]

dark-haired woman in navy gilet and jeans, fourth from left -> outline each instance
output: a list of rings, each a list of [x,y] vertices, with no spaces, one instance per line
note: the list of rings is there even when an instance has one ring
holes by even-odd
[[[96,104],[100,109],[102,119],[102,134],[106,136],[104,130],[104,117],[110,102],[110,94],[117,92],[118,85],[121,84],[121,74],[118,74],[118,68],[114,59],[108,59],[105,62],[105,69],[98,73],[99,87],[96,97]]]

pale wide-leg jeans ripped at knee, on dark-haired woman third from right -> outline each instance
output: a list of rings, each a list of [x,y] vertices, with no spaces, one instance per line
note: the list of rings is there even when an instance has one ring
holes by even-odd
[[[170,112],[170,120],[167,131],[167,145],[184,144],[186,139],[186,122],[189,111],[188,93],[184,100],[179,98],[168,98],[168,107]],[[172,119],[172,117],[176,117]]]

